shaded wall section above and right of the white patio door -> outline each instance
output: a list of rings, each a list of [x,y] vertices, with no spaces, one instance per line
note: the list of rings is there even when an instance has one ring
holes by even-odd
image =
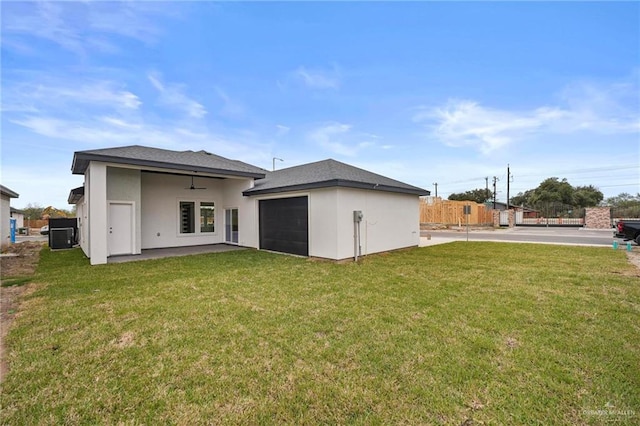
[[[133,253],[141,250],[141,190],[140,170],[107,167],[107,202],[130,201],[134,206]]]

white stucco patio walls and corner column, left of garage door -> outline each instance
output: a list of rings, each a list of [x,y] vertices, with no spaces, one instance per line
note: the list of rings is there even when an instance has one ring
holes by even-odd
[[[85,196],[76,206],[80,246],[91,258],[91,264],[107,262],[109,202],[131,202],[134,206],[134,254],[148,248],[224,242],[225,208],[238,209],[238,243],[257,247],[255,202],[242,196],[242,191],[250,188],[253,180],[196,177],[194,183],[207,189],[190,190],[188,175],[148,173],[132,167],[91,162],[85,173]],[[180,201],[196,203],[195,233],[180,233]],[[200,232],[200,202],[215,203],[215,232]]]

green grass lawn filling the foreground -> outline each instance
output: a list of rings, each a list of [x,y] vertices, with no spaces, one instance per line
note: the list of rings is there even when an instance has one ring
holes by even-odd
[[[44,251],[33,282],[3,424],[640,423],[640,279],[622,251],[94,267]]]

